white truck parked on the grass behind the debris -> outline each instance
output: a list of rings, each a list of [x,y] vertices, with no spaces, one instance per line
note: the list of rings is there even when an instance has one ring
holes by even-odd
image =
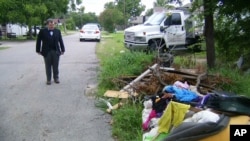
[[[155,12],[143,24],[125,29],[124,46],[129,50],[166,51],[188,49],[200,42],[192,15],[183,10]],[[196,46],[196,48],[200,48]]]

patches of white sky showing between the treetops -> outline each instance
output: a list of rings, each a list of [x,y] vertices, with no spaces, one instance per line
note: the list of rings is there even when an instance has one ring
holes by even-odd
[[[96,15],[104,10],[104,4],[114,2],[115,0],[82,0],[82,5],[85,7],[85,13],[94,12]],[[146,5],[146,10],[153,8],[155,0],[141,0],[143,5]]]

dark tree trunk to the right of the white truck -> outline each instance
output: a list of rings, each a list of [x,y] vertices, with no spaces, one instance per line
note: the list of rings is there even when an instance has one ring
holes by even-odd
[[[213,6],[211,3],[212,0],[204,0],[205,39],[208,68],[213,68],[215,66]]]

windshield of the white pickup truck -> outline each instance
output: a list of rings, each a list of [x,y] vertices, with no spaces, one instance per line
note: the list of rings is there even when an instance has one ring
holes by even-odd
[[[148,20],[144,23],[145,25],[160,25],[162,21],[165,19],[165,12],[156,12],[152,16],[148,18]]]

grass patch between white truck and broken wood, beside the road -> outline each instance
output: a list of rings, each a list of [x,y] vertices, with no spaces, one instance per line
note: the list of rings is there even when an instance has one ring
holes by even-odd
[[[97,50],[101,65],[98,79],[100,87],[119,89],[114,79],[121,76],[139,75],[152,61],[153,56],[126,50],[121,33],[111,34],[111,36],[111,38],[105,38]]]

